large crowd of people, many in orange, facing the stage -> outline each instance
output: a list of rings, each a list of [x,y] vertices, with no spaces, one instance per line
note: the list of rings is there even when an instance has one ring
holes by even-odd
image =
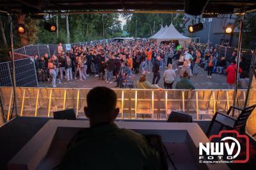
[[[164,88],[172,89],[175,77],[180,77],[174,88],[195,89],[190,77],[198,75],[200,67],[207,71],[207,79],[211,79],[213,73],[227,74],[228,88],[234,88],[236,80],[236,52],[227,61],[216,49],[201,51],[193,43],[181,47],[175,41],[161,44],[148,40],[100,42],[74,45],[67,52],[60,43],[57,51],[51,57],[47,53],[40,58],[35,56],[38,81],[50,81],[51,78],[53,87],[63,79],[84,81],[88,76],[95,76],[109,84],[115,81],[115,87],[122,88],[132,75],[140,73],[140,79],[134,83],[136,88],[161,89],[158,85],[160,70],[164,70]],[[151,72],[152,84],[147,81],[147,74]],[[248,72],[248,63],[242,56],[239,68],[242,88],[248,84]]]

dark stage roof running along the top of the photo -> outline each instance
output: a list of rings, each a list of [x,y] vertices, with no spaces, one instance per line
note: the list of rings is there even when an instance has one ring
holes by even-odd
[[[186,0],[0,0],[0,9],[13,13],[41,13],[57,10],[184,10]],[[189,0],[195,1],[195,0]],[[205,0],[204,0],[205,1]],[[45,3],[46,2],[46,3]],[[49,3],[47,3],[49,2]],[[198,2],[198,0],[196,0]],[[200,3],[202,3],[200,1]],[[194,3],[198,8],[198,3]],[[230,8],[228,8],[228,6]],[[191,8],[191,6],[189,6]],[[205,10],[237,13],[256,10],[254,0],[209,0]],[[223,10],[224,9],[224,10]]]

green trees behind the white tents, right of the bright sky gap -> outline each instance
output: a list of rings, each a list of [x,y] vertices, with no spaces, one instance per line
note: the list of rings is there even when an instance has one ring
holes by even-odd
[[[124,13],[122,14],[127,23],[123,27],[130,36],[136,36],[136,20],[137,20],[137,37],[148,38],[163,26],[173,22],[173,26],[180,32],[184,33],[185,26],[183,24],[183,14],[171,14],[171,13]],[[155,30],[154,30],[155,22]]]

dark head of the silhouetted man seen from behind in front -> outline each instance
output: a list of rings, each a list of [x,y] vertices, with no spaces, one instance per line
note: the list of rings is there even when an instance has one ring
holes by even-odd
[[[106,87],[91,89],[87,95],[87,107],[84,107],[84,112],[90,119],[91,127],[113,122],[119,113],[115,91]]]

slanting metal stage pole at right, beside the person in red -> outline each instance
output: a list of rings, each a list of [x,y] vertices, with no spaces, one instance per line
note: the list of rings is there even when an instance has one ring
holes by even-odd
[[[239,41],[238,41],[238,50],[237,50],[237,64],[236,64],[236,86],[233,95],[233,105],[236,106],[237,99],[237,85],[238,85],[238,75],[239,75],[239,63],[240,63],[240,54],[241,54],[241,43],[242,43],[242,32],[243,32],[243,19],[244,15],[240,19],[240,30],[239,30]],[[234,110],[232,111],[232,116],[234,117]]]

